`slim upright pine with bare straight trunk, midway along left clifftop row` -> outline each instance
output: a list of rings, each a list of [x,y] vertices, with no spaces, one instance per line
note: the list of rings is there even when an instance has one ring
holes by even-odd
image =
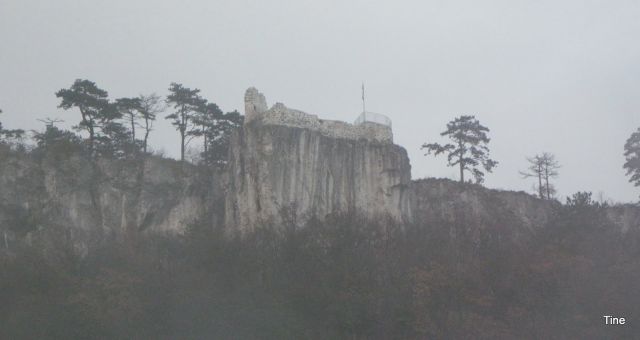
[[[199,89],[190,89],[182,86],[182,84],[171,83],[169,85],[169,95],[167,96],[167,104],[172,105],[175,112],[165,117],[171,119],[171,124],[180,132],[180,160],[184,161],[185,146],[193,128],[193,117],[198,107],[202,105],[202,98],[198,95]]]

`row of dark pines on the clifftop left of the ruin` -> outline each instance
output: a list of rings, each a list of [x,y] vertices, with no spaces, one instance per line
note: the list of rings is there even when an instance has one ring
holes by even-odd
[[[69,88],[55,93],[59,108],[79,114],[79,121],[71,131],[56,127],[59,119],[43,120],[45,130],[33,133],[38,147],[80,146],[92,160],[99,157],[130,158],[149,152],[149,136],[159,115],[166,113],[180,136],[180,160],[194,138],[202,140],[201,160],[222,168],[226,164],[229,137],[233,129],[242,125],[243,116],[237,111],[223,112],[217,104],[191,89],[171,83],[169,94],[156,94],[110,99],[106,90],[94,82],[77,79]],[[0,111],[1,113],[2,111]],[[20,141],[24,130],[3,129],[0,124],[0,144]],[[78,150],[76,150],[78,151]]]

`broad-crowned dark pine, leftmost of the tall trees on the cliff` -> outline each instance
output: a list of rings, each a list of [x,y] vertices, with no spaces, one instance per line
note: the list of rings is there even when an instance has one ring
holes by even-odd
[[[56,92],[56,97],[61,99],[58,107],[80,110],[82,120],[74,128],[88,132],[89,152],[95,156],[96,144],[105,140],[101,130],[105,127],[113,130],[114,121],[122,116],[115,105],[109,103],[107,91],[92,81],[76,79],[70,88]]]

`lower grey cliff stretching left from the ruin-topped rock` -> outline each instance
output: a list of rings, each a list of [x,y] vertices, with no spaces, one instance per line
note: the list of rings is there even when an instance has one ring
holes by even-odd
[[[85,253],[104,240],[180,234],[202,218],[219,224],[221,177],[158,157],[103,159],[92,168],[75,154],[2,148],[2,242],[46,236]]]

